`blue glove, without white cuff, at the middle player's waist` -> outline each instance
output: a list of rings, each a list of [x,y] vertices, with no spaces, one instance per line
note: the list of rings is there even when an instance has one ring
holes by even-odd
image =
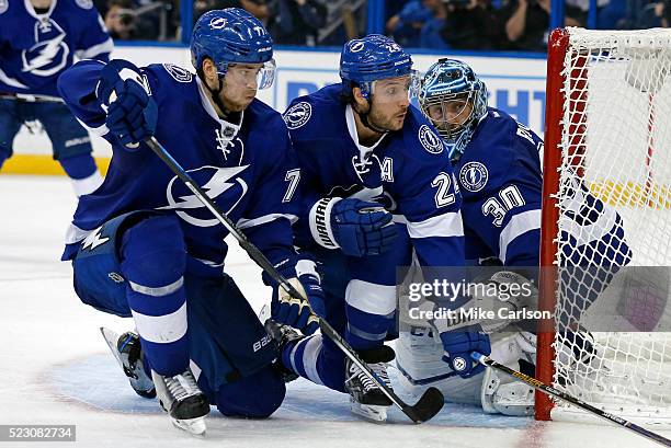
[[[398,237],[391,214],[377,203],[345,198],[331,210],[336,242],[345,255],[379,255],[390,249]]]

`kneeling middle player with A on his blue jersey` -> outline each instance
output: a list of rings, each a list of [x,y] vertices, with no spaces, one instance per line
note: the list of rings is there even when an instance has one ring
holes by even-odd
[[[304,191],[297,240],[322,263],[325,318],[380,379],[393,359],[397,267],[462,266],[462,203],[440,137],[410,105],[417,87],[410,56],[369,35],[346,43],[341,83],[295,99],[284,114],[298,154]],[[441,335],[460,375],[481,367],[468,353],[489,353],[476,329]],[[351,394],[352,411],[376,421],[391,403],[333,344],[320,336],[294,343],[285,365]],[[446,365],[447,366],[447,365]]]

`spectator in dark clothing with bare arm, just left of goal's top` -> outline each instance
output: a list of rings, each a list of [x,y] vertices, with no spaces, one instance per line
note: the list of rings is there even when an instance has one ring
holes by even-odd
[[[505,35],[512,49],[545,51],[547,49],[550,0],[514,0],[502,14],[508,18]],[[580,22],[566,16],[566,26]]]

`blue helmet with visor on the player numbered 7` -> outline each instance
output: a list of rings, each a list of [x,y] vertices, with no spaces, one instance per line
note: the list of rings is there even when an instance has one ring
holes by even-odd
[[[257,18],[240,8],[208,11],[198,19],[191,36],[191,61],[196,70],[202,70],[205,58],[214,61],[220,77],[229,64],[264,64],[259,89],[270,87],[274,79],[273,38]]]

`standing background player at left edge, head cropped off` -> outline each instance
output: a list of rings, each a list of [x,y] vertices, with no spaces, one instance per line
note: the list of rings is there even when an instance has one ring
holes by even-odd
[[[32,130],[38,120],[77,196],[98,188],[89,134],[58,97],[56,80],[75,57],[106,61],[112,48],[91,0],[0,1],[0,168],[21,126]]]

